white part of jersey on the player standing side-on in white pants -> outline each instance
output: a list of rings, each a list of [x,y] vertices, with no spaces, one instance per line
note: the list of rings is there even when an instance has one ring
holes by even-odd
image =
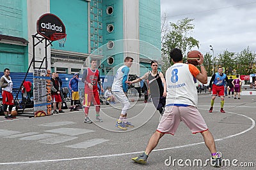
[[[127,67],[127,66],[122,66],[116,71],[114,82],[111,88],[112,92],[124,92],[124,89],[123,89],[124,73],[122,72],[122,69],[124,67]],[[128,80],[128,77],[127,77],[127,80]]]

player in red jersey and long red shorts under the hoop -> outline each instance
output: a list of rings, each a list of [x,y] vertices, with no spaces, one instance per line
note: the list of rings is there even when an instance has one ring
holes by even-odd
[[[93,102],[96,110],[96,120],[98,122],[103,122],[100,118],[100,97],[98,92],[98,83],[100,85],[101,92],[104,92],[102,84],[100,82],[100,73],[96,69],[97,60],[91,60],[91,67],[84,70],[82,81],[84,82],[84,123],[92,124],[92,120],[88,117],[89,108]]]

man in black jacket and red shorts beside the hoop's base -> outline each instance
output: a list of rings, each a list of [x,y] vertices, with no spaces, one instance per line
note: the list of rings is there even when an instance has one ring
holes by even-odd
[[[56,80],[56,73],[52,73],[51,78],[51,95],[52,95],[52,101],[53,101],[53,113],[64,113],[63,110],[61,110],[61,96],[60,96],[60,82]],[[59,112],[56,110],[56,103],[58,103],[59,106]]]

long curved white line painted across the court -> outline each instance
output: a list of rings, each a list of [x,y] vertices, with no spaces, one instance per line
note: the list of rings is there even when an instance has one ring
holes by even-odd
[[[205,109],[203,109],[205,110]],[[227,113],[232,113],[232,112],[227,112]],[[233,134],[224,138],[220,138],[220,139],[215,139],[215,141],[222,141],[224,139],[228,139],[228,138],[232,138],[234,136],[238,136],[240,134],[244,134],[250,130],[253,129],[253,127],[255,127],[255,121],[250,118],[247,117],[245,115],[241,115],[238,113],[232,113],[234,115],[240,115],[242,117],[246,117],[248,119],[250,119],[252,121],[252,126],[248,129],[246,129],[243,132],[239,132],[237,134]],[[185,147],[189,147],[189,146],[195,146],[195,145],[200,145],[200,144],[204,144],[204,142],[199,142],[199,143],[191,143],[188,145],[180,145],[180,146],[174,146],[171,148],[162,148],[162,149],[157,149],[157,150],[152,150],[152,152],[157,152],[157,151],[163,151],[163,150],[172,150],[172,149],[176,149],[176,148],[185,148]],[[68,158],[68,159],[52,159],[52,160],[32,160],[32,161],[26,161],[26,162],[4,162],[4,163],[0,163],[0,165],[10,165],[10,164],[33,164],[33,163],[42,163],[42,162],[59,162],[59,161],[65,161],[65,160],[81,160],[81,159],[92,159],[92,158],[104,158],[104,157],[117,157],[117,156],[123,156],[123,155],[132,155],[132,154],[137,154],[137,153],[143,153],[144,151],[140,151],[140,152],[129,152],[129,153],[116,153],[116,154],[110,154],[110,155],[100,155],[100,156],[91,156],[91,157],[77,157],[77,158]]]

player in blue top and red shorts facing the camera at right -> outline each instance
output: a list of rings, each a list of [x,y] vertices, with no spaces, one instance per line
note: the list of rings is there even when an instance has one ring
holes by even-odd
[[[228,77],[225,73],[222,73],[222,71],[223,71],[222,67],[218,67],[218,73],[215,73],[212,75],[212,78],[209,84],[209,92],[212,91],[211,108],[209,110],[210,113],[212,113],[214,100],[217,95],[221,98],[220,111],[221,113],[225,113],[225,111],[223,110],[224,97],[225,97],[224,85],[225,85],[225,81],[228,81]]]

